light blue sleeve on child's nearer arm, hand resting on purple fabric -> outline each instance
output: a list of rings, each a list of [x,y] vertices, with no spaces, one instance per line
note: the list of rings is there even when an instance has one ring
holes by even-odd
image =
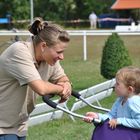
[[[128,111],[130,112],[130,118],[118,118],[118,124],[122,124],[126,127],[140,129],[140,100],[131,100],[128,102]]]

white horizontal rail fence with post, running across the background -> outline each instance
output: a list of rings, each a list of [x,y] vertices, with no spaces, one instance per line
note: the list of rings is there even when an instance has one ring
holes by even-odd
[[[87,60],[87,36],[108,36],[112,33],[118,33],[119,35],[140,35],[138,31],[121,31],[121,30],[68,30],[70,36],[83,36],[83,60]],[[31,34],[25,30],[6,31],[1,30],[0,36],[30,36]]]

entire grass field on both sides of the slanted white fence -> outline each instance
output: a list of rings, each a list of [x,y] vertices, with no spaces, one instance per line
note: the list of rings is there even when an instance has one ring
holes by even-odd
[[[132,58],[134,66],[140,67],[140,36],[121,36]],[[0,38],[0,42],[5,38]],[[88,60],[83,61],[82,37],[71,37],[71,42],[65,52],[65,60],[62,65],[65,72],[73,82],[75,90],[82,90],[105,81],[100,75],[100,61],[102,48],[107,36],[88,36],[87,52]],[[0,47],[1,51],[5,48]],[[110,108],[115,96],[104,99],[101,104]],[[72,101],[70,101],[72,104]],[[85,114],[92,111],[89,107],[78,110]],[[29,128],[28,140],[90,140],[94,126],[79,119],[73,122],[68,115],[61,120],[53,120]]]

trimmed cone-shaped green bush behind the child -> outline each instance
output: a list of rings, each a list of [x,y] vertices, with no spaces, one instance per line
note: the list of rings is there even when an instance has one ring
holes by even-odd
[[[101,60],[101,75],[106,79],[115,77],[116,72],[132,64],[128,50],[117,33],[107,39]]]

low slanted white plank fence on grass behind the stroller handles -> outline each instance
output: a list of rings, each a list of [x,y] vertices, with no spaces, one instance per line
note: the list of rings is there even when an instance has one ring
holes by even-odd
[[[108,97],[111,95],[113,91],[113,87],[115,84],[115,79],[103,82],[101,84],[92,86],[90,88],[87,88],[85,90],[82,90],[79,92],[81,96],[89,103],[97,102],[99,106],[99,100]],[[57,102],[58,100],[55,100]],[[64,107],[65,109],[68,109],[67,102],[60,104],[61,107]],[[82,107],[86,106],[85,103],[83,103],[81,100],[75,100],[72,108],[70,111],[75,111],[77,109],[80,109]],[[33,126],[42,122],[50,121],[53,119],[60,119],[63,116],[63,111],[61,110],[55,110],[48,106],[46,103],[41,103],[36,105],[35,110],[31,113],[30,119],[29,119],[29,126]],[[74,117],[70,116],[73,120]]]

